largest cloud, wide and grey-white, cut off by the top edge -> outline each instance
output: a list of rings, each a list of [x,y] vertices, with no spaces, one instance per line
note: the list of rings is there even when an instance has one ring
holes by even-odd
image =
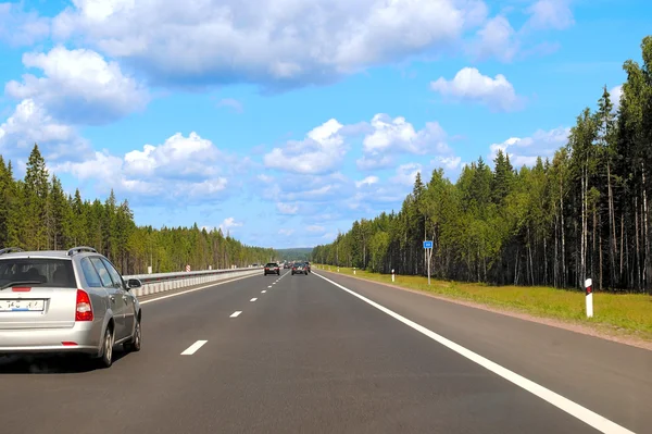
[[[74,0],[53,20],[154,83],[331,83],[448,50],[487,14],[478,0]]]

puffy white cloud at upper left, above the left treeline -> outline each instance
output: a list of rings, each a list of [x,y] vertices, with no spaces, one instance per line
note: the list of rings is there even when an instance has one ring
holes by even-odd
[[[7,95],[32,98],[64,122],[104,124],[143,109],[149,101],[141,84],[92,50],[57,46],[48,53],[23,54],[23,63],[41,70],[42,76],[25,74],[22,83],[9,82]]]

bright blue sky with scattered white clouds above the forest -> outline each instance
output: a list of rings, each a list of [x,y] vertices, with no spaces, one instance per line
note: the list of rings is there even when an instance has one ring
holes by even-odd
[[[551,156],[651,29],[645,0],[0,0],[0,153],[138,224],[314,246],[417,171]]]

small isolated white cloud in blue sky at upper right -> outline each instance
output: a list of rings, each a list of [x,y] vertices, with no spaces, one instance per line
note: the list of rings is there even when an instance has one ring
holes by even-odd
[[[523,108],[523,98],[516,95],[504,75],[491,78],[475,67],[463,67],[450,80],[439,77],[430,83],[430,88],[444,98],[482,103],[492,111],[510,112]]]

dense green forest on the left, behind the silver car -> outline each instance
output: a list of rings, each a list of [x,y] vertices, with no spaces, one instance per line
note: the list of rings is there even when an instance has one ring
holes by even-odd
[[[0,247],[28,250],[90,246],[111,259],[124,274],[247,266],[266,262],[274,250],[243,246],[228,234],[192,227],[137,226],[129,203],[113,191],[101,202],[83,200],[79,190],[66,195],[50,176],[38,146],[27,161],[25,179],[14,179],[11,161],[0,156]]]

